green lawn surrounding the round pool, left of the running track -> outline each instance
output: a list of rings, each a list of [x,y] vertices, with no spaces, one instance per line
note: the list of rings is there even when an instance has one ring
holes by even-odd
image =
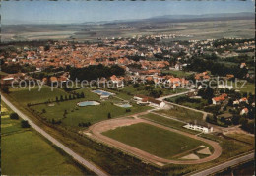
[[[96,93],[91,92],[90,89],[79,89],[77,92],[84,92],[85,98],[68,100],[63,102],[55,103],[54,106],[50,107],[47,104],[40,104],[32,106],[32,109],[37,112],[42,112],[45,109],[45,113],[41,116],[46,117],[49,120],[62,120],[63,125],[78,127],[79,123],[90,122],[91,124],[96,123],[101,120],[107,120],[108,113],[111,114],[111,118],[116,118],[122,115],[133,114],[137,112],[142,112],[151,107],[140,106],[135,103],[131,103],[132,107],[129,108],[131,112],[126,112],[126,108],[118,107],[113,104],[113,102],[120,102],[120,100],[111,97],[105,101],[99,101],[99,96]],[[77,103],[80,101],[95,100],[99,101],[98,106],[86,106],[79,107]],[[63,117],[64,111],[67,111],[66,118]]]

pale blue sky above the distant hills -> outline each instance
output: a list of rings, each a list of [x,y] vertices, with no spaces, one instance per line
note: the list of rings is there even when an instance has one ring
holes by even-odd
[[[2,1],[2,25],[70,24],[146,19],[162,15],[253,12],[247,1]]]

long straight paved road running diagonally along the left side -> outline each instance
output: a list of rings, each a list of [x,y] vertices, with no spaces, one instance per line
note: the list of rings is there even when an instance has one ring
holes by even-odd
[[[45,137],[47,140],[49,140],[50,142],[52,142],[54,145],[56,145],[57,147],[60,147],[61,149],[63,149],[67,154],[69,154],[70,156],[72,156],[76,161],[78,161],[80,164],[84,165],[85,167],[87,167],[88,169],[90,169],[91,171],[95,172],[97,175],[100,176],[106,176],[107,174],[102,171],[99,167],[97,167],[95,164],[93,164],[92,162],[84,159],[83,157],[81,157],[80,155],[78,155],[77,153],[75,153],[73,150],[71,150],[69,147],[65,147],[63,144],[61,144],[60,142],[58,142],[55,138],[53,138],[52,136],[50,136],[48,133],[46,133],[44,130],[42,130],[40,127],[38,127],[36,124],[34,124],[32,122],[32,120],[26,116],[24,113],[22,113],[19,109],[17,109],[8,99],[6,99],[3,95],[1,95],[1,100],[4,101],[14,112],[16,112],[22,119],[24,120],[28,120],[28,122],[30,123],[30,125],[32,126],[32,128],[34,130],[36,130],[38,133],[40,133],[43,137]]]

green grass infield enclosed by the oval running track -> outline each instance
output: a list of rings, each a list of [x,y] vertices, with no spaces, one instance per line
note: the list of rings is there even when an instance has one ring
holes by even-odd
[[[184,135],[145,123],[119,127],[102,134],[166,159],[186,150],[205,145],[203,142]]]

